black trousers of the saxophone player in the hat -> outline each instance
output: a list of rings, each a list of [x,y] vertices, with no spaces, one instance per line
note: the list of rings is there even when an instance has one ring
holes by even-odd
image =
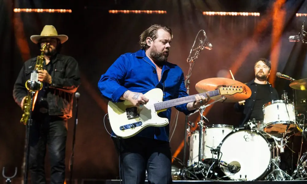
[[[33,184],[45,184],[45,155],[48,145],[51,184],[65,181],[67,120],[48,113],[33,118],[29,134],[29,170]]]

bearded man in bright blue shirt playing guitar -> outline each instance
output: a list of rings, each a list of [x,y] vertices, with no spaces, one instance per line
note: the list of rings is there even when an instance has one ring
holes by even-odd
[[[163,90],[164,101],[188,96],[183,71],[167,62],[172,37],[172,30],[167,26],[152,25],[146,29],[140,36],[141,50],[121,55],[101,76],[98,82],[101,94],[112,102],[127,100],[135,106],[149,102],[143,94],[154,88]],[[208,100],[196,95],[194,102],[174,107],[187,115]],[[171,108],[159,116],[170,121]],[[146,170],[151,183],[172,182],[169,125],[147,127],[133,137],[113,140],[125,184],[144,183]]]

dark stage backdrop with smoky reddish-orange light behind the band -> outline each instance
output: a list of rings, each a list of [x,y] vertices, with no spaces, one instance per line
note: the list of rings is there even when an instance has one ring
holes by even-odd
[[[272,56],[274,2],[273,0],[1,1],[0,168],[7,167],[10,174],[14,167],[18,167],[18,176],[21,175],[25,127],[19,123],[22,111],[14,102],[12,91],[23,62],[39,55],[39,50],[30,41],[30,36],[40,34],[44,25],[54,25],[59,34],[68,35],[69,39],[63,44],[61,53],[77,59],[81,71],[74,177],[111,179],[118,176],[118,155],[103,125],[103,117],[107,113],[107,100],[101,97],[97,82],[115,59],[123,53],[137,51],[138,36],[150,25],[168,25],[174,33],[169,61],[179,65],[186,75],[189,68],[186,60],[193,41],[198,31],[204,29],[213,49],[201,51],[196,60],[190,79],[190,94],[197,93],[195,84],[198,81],[229,77],[229,69],[234,66],[238,67],[234,72],[235,79],[243,83],[249,82],[254,77],[253,67],[257,59]],[[285,19],[282,20],[284,27],[280,29],[282,34],[277,37],[281,47],[276,70],[295,79],[307,78],[306,46],[301,42],[289,42],[288,37],[299,32],[305,17],[296,17],[295,13],[306,13],[304,8],[306,5],[302,0],[286,1],[282,6],[286,12]],[[14,8],[72,9],[72,13],[14,13]],[[166,10],[167,13],[109,14],[108,10]],[[204,16],[202,11],[260,12],[261,15],[260,17]],[[273,45],[273,48],[276,45]],[[283,90],[292,95],[289,83],[285,79],[276,79],[274,85],[279,95]],[[298,101],[301,98],[305,98],[305,92],[297,91]],[[206,115],[210,124],[237,125],[240,115],[234,112],[233,105],[233,103],[216,103]],[[173,111],[170,122],[171,127],[174,125],[175,112]],[[189,121],[196,121],[198,117],[195,114],[189,118]],[[75,116],[69,120],[67,165],[71,153],[74,118]],[[184,139],[184,119],[184,115],[180,113],[170,142],[172,152],[177,150]],[[108,124],[107,128],[110,131]],[[298,148],[299,144],[296,147]],[[183,151],[178,158],[183,159]],[[176,162],[174,165],[179,166]],[[46,167],[49,177],[48,161]]]

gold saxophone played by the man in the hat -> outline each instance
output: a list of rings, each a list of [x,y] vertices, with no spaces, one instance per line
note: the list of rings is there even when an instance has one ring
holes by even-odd
[[[36,59],[36,64],[34,67],[34,70],[31,73],[31,78],[33,75],[33,78],[37,78],[38,77],[38,70],[43,70],[44,69],[44,54],[45,51],[49,48],[49,44],[44,44],[42,46],[42,48],[40,49],[41,51],[41,55],[37,56]],[[35,74],[33,74],[35,72]],[[34,79],[35,80],[35,79]],[[36,80],[35,80],[36,81]],[[26,125],[28,123],[29,117],[30,117],[30,110],[33,111],[34,110],[34,105],[37,99],[37,94],[38,91],[40,91],[43,88],[43,82],[33,82],[33,79],[28,79],[25,82],[25,87],[28,90],[28,95],[26,96],[24,102],[23,102],[23,114],[21,117],[20,122],[23,123],[24,125]],[[32,104],[32,109],[30,109],[31,106],[31,97],[33,95],[33,104]]]

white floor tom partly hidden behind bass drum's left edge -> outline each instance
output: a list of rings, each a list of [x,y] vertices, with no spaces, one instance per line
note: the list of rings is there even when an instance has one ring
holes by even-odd
[[[226,137],[233,129],[233,126],[222,124],[205,126],[204,159],[217,159],[217,154],[213,154],[211,148],[216,149],[224,137]]]

